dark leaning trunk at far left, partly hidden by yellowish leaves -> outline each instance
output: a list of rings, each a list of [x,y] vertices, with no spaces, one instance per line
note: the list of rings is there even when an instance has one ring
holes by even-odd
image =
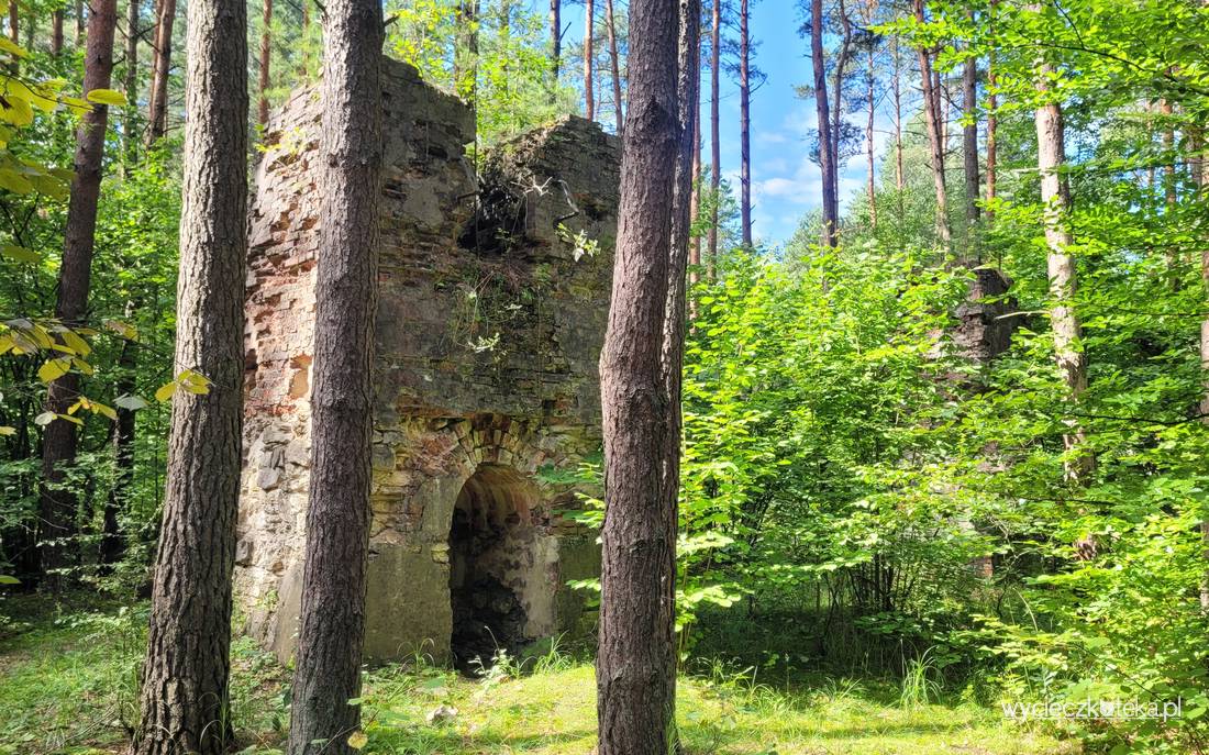
[[[108,89],[114,72],[114,29],[117,25],[117,0],[93,0],[88,18],[88,48],[85,52],[83,91]],[[83,324],[92,284],[92,254],[97,231],[97,201],[100,196],[102,165],[105,153],[105,128],[109,108],[93,105],[76,129],[75,175],[68,202],[63,262],[59,266],[59,292],[54,316],[68,326]],[[46,408],[66,414],[80,393],[80,376],[69,372],[52,382]],[[65,419],[46,425],[42,436],[42,477],[40,518],[42,570],[57,592],[62,570],[69,565],[64,539],[75,532],[76,499],[63,489],[64,466],[75,461],[76,426]]]

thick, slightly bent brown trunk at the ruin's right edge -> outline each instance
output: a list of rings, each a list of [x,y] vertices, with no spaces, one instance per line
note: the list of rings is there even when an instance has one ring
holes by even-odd
[[[601,353],[604,528],[600,755],[665,755],[673,747],[676,509],[664,483],[675,432],[663,344],[679,151],[677,2],[630,6],[630,115],[613,297]]]

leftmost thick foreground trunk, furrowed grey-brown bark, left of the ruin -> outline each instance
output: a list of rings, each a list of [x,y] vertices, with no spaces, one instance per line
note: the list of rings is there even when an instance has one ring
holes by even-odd
[[[191,0],[175,371],[209,391],[172,400],[143,720],[134,755],[222,753],[239,503],[248,204],[247,4]],[[91,34],[89,34],[91,36]]]

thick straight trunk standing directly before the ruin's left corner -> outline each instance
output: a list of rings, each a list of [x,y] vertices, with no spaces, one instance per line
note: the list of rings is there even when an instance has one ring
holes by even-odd
[[[291,755],[351,754],[370,534],[370,366],[382,172],[382,5],[337,0],[324,34],[311,499]],[[325,741],[325,744],[312,744]]]

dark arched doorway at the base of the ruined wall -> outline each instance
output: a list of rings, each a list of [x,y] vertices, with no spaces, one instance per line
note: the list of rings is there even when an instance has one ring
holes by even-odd
[[[530,639],[522,602],[533,541],[533,483],[516,470],[481,464],[462,486],[450,527],[450,650],[463,670],[515,654]]]

